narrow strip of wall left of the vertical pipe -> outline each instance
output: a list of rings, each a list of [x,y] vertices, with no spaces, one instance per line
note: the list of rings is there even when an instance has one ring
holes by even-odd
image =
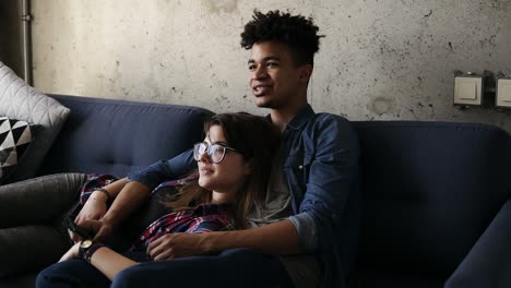
[[[23,77],[21,15],[20,1],[0,1],[0,61]]]

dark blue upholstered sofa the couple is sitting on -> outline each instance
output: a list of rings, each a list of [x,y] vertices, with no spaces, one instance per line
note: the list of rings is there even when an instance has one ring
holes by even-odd
[[[51,96],[71,116],[39,175],[124,176],[191,147],[212,115],[198,107]],[[354,125],[364,206],[349,287],[511,287],[510,135],[472,123]],[[0,279],[0,287],[33,287],[45,264]]]

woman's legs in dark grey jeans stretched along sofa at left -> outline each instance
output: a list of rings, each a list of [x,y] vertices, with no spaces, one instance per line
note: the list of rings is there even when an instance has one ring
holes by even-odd
[[[0,185],[0,277],[48,266],[69,249],[62,217],[85,179],[59,173]]]

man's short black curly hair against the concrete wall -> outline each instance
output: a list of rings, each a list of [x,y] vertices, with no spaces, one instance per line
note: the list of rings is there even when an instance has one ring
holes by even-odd
[[[266,14],[255,10],[252,20],[245,25],[241,33],[241,47],[251,49],[260,41],[285,44],[293,51],[296,64],[314,64],[314,53],[319,50],[318,26],[312,19],[301,15],[281,13],[278,10]]]

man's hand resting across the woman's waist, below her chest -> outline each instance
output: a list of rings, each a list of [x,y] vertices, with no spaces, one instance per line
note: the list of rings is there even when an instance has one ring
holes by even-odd
[[[197,256],[207,251],[206,233],[168,233],[147,247],[147,255],[154,261]]]

